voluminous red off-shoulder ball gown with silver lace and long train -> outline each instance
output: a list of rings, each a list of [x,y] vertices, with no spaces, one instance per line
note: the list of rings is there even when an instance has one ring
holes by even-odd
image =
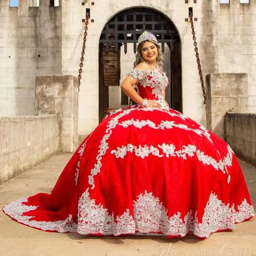
[[[254,216],[243,172],[228,144],[169,109],[165,73],[132,69],[142,98],[162,108],[118,109],[76,150],[52,192],[3,211],[24,225],[82,235],[170,237],[232,230]]]

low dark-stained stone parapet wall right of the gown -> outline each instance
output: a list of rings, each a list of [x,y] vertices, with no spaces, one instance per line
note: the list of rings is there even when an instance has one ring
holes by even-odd
[[[226,140],[237,157],[256,165],[256,114],[226,114]]]

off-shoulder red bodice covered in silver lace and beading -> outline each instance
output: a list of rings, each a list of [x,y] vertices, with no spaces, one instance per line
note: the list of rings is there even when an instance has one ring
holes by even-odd
[[[156,100],[163,109],[169,110],[163,96],[163,92],[168,85],[168,78],[165,73],[161,74],[157,70],[133,68],[128,75],[131,75],[132,79],[138,78],[139,81],[136,85],[138,93],[143,99]]]

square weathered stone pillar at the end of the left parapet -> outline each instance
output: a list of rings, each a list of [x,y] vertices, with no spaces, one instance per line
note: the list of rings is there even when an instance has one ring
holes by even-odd
[[[36,115],[59,114],[59,151],[78,147],[78,78],[36,76]]]

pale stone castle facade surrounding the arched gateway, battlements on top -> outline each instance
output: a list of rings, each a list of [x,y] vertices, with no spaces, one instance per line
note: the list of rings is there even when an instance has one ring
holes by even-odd
[[[193,7],[194,17],[198,19],[194,25],[203,76],[223,72],[247,73],[249,97],[255,96],[254,2],[241,4],[240,1],[231,1],[229,4],[220,4],[219,0],[209,0],[184,4],[180,0],[95,0],[94,5],[91,5],[91,1],[85,1],[82,6],[80,0],[66,0],[60,1],[59,7],[49,7],[48,1],[41,1],[39,7],[30,9],[28,1],[20,1],[20,6],[12,9],[9,9],[8,2],[2,0],[0,4],[0,115],[34,114],[32,100],[36,75],[62,73],[77,76],[84,33],[82,19],[85,18],[86,8],[90,8],[94,23],[89,22],[88,25],[84,72],[79,92],[79,134],[90,133],[97,125],[99,116],[98,43],[101,31],[116,13],[135,6],[158,10],[170,18],[179,32],[185,115],[205,124],[191,28],[184,21],[188,18],[188,7]],[[132,52],[131,60],[128,59],[131,63],[133,57]],[[128,60],[123,63],[127,69]],[[110,104],[117,107],[121,92],[117,88],[110,90],[115,91],[115,97],[110,97]],[[24,96],[26,93],[28,96]],[[28,105],[18,106],[17,99],[20,98],[27,98]],[[14,101],[11,103],[2,99]],[[250,98],[249,111],[256,112],[254,98]]]

